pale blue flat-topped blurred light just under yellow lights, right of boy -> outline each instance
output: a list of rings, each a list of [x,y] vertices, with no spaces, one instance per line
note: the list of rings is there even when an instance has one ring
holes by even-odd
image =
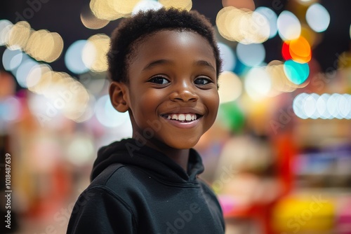
[[[238,59],[249,67],[258,66],[265,60],[265,47],[263,44],[237,45]]]

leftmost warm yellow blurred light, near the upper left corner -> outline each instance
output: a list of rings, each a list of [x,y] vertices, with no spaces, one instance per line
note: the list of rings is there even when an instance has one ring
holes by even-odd
[[[10,50],[17,50],[25,47],[30,35],[30,25],[27,21],[20,21],[11,27],[8,32],[7,47]]]

